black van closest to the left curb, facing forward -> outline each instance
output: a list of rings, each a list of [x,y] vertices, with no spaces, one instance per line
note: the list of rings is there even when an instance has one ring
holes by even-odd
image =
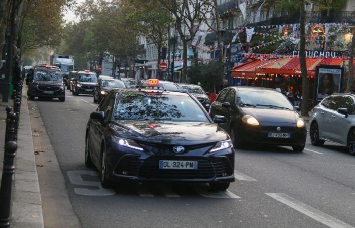
[[[30,77],[27,95],[30,100],[35,97],[59,98],[65,101],[65,85],[59,67],[51,65],[38,65],[33,67],[33,77]]]

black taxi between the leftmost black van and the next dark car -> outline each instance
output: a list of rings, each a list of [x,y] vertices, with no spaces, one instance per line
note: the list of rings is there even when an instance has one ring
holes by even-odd
[[[97,85],[96,73],[89,70],[78,71],[73,79],[73,95],[79,94],[94,94],[95,86]]]

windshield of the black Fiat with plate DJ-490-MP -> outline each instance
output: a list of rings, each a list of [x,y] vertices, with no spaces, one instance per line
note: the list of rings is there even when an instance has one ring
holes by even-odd
[[[239,107],[293,109],[288,99],[274,91],[238,91]]]

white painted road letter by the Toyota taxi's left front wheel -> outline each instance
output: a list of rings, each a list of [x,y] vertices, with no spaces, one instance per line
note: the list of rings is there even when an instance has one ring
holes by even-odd
[[[74,188],[74,192],[79,195],[86,196],[110,196],[115,195],[116,192],[110,189],[104,189],[101,182],[98,181],[86,181],[83,180],[81,175],[88,175],[98,177],[97,172],[89,170],[74,170],[68,171],[68,177],[72,184],[83,185],[83,186],[95,186],[98,189],[87,189],[87,188]]]

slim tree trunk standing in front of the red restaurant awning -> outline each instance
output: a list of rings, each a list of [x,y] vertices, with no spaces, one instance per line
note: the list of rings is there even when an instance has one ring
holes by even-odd
[[[305,38],[305,15],[304,0],[300,0],[300,66],[302,74],[302,116],[308,117],[308,100],[309,100],[309,82],[306,65],[306,38]]]

